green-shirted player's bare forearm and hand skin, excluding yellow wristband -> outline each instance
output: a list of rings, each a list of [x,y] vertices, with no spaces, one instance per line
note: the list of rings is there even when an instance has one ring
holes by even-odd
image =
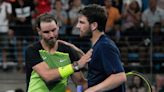
[[[80,60],[77,61],[79,68],[83,68],[87,62],[90,61],[92,55],[92,50],[88,51],[83,55]],[[72,65],[74,69],[74,66]],[[41,62],[33,67],[33,70],[36,71],[46,82],[57,81],[61,79],[61,75],[58,69],[50,69],[46,62]]]

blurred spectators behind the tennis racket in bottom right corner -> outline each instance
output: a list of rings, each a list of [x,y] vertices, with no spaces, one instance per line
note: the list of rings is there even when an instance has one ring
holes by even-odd
[[[129,78],[129,77],[128,77]],[[145,76],[146,80],[148,76]],[[164,76],[156,74],[153,81],[149,81],[152,87],[151,92],[164,92]],[[146,82],[138,76],[132,76],[128,79],[126,86],[126,92],[149,92]]]

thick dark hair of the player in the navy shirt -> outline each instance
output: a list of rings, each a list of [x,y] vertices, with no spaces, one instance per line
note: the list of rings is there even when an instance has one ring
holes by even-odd
[[[106,10],[97,4],[90,4],[79,11],[80,14],[87,17],[89,23],[97,22],[98,30],[104,31],[107,21]]]

